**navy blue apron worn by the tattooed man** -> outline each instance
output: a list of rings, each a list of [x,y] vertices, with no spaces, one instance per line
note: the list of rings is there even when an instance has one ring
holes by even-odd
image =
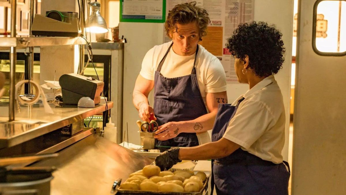
[[[173,43],[168,48],[155,71],[154,113],[157,118],[156,122],[159,126],[171,121],[193,120],[208,113],[198,87],[195,69],[198,45],[191,75],[167,78],[160,73],[163,62],[172,45]],[[175,129],[170,130],[172,131]],[[158,141],[157,145],[192,147],[199,144],[196,133],[180,133],[172,139]]]

